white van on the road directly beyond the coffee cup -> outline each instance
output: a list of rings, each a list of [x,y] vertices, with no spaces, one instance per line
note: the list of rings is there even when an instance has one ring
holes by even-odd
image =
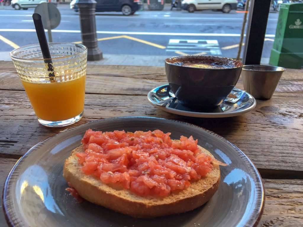
[[[237,0],[183,0],[182,9],[190,13],[203,9],[217,9],[229,13],[232,9],[237,9],[237,4]]]

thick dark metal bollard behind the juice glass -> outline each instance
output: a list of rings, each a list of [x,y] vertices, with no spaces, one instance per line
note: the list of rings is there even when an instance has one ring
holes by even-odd
[[[87,47],[87,60],[98,61],[103,58],[102,51],[98,47],[96,33],[96,4],[95,0],[78,0],[80,10],[80,25],[82,43]]]

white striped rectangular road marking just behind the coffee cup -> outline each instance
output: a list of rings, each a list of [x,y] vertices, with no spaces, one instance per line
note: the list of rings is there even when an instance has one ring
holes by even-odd
[[[205,39],[170,39],[166,51],[181,51],[199,53],[205,52],[211,55],[222,55],[218,40]]]

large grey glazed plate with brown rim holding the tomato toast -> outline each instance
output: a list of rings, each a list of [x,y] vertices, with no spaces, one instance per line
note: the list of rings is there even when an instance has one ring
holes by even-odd
[[[198,139],[220,166],[218,191],[203,206],[179,215],[135,219],[84,201],[78,203],[65,188],[63,163],[80,145],[85,130],[155,130]],[[32,147],[12,168],[3,189],[3,209],[10,226],[255,226],[264,206],[264,189],[258,170],[235,145],[204,128],[153,117],[120,117],[68,128]]]

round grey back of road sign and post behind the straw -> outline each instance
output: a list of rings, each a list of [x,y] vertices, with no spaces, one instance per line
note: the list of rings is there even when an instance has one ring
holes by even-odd
[[[57,7],[52,3],[41,3],[35,8],[35,13],[41,15],[43,27],[47,29],[48,42],[52,43],[52,29],[60,24],[61,15]]]

